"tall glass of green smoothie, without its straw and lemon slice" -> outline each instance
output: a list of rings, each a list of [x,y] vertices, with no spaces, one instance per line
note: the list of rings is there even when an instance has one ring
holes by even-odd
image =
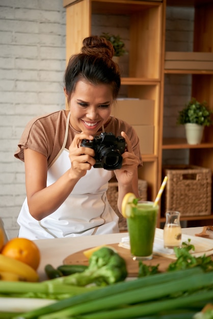
[[[127,226],[134,259],[152,258],[158,208],[158,205],[153,207],[153,202],[138,202],[135,207],[131,207]]]

